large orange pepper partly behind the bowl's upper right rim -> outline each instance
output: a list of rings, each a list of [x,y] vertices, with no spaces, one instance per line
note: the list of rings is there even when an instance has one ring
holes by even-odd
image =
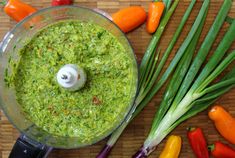
[[[146,18],[146,12],[141,6],[124,8],[112,15],[113,22],[125,33],[143,24]]]

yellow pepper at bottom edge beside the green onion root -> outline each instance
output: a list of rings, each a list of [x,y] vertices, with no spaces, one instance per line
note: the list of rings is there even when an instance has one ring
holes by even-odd
[[[171,135],[163,149],[162,153],[160,154],[159,158],[178,158],[181,150],[181,137]]]

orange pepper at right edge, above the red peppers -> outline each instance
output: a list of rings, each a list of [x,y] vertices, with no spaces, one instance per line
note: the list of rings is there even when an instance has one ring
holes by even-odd
[[[219,133],[230,143],[235,144],[235,119],[219,105],[212,107],[208,115]]]

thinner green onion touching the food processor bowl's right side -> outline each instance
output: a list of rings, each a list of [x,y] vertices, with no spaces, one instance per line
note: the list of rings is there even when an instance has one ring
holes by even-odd
[[[126,126],[130,123],[130,121],[137,115],[140,113],[140,111],[144,108],[144,106],[146,106],[148,104],[148,102],[145,103],[141,103],[140,104],[140,100],[144,99],[145,97],[143,97],[143,95],[146,95],[146,91],[148,91],[148,93],[151,92],[151,88],[150,87],[154,87],[156,85],[158,85],[155,88],[155,91],[152,92],[152,94],[156,94],[158,92],[158,90],[162,87],[162,85],[166,82],[166,80],[168,79],[168,77],[170,76],[171,72],[173,71],[174,67],[176,66],[173,65],[171,67],[171,70],[168,71],[165,74],[164,79],[161,80],[160,83],[156,83],[156,80],[168,58],[168,56],[170,55],[175,43],[178,40],[178,37],[184,27],[184,24],[186,23],[194,4],[196,3],[196,0],[192,0],[188,9],[186,10],[175,34],[172,37],[171,42],[169,43],[168,48],[165,50],[163,57],[161,58],[160,62],[158,63],[158,59],[159,59],[159,53],[160,53],[160,49],[158,49],[156,51],[156,47],[157,44],[160,40],[160,37],[165,29],[165,26],[167,25],[170,17],[172,16],[174,10],[176,9],[177,5],[179,3],[179,0],[175,0],[174,3],[172,4],[172,6],[169,8],[169,10],[166,11],[164,17],[161,20],[161,23],[157,29],[157,31],[154,33],[149,46],[147,47],[147,50],[144,54],[144,57],[141,61],[140,64],[140,82],[138,85],[138,89],[139,89],[139,93],[136,97],[135,103],[131,109],[131,111],[129,112],[128,116],[126,117],[126,119],[124,120],[124,122],[119,126],[119,128],[117,128],[112,135],[110,136],[107,144],[105,145],[105,147],[103,148],[103,150],[99,153],[99,155],[97,156],[97,158],[105,158],[108,157],[111,149],[113,148],[114,144],[117,142],[118,138],[120,137],[120,135],[122,134],[122,132],[124,131],[124,129],[126,128]],[[168,3],[170,4],[170,3]],[[196,26],[197,27],[197,26]],[[158,65],[157,65],[158,63]]]

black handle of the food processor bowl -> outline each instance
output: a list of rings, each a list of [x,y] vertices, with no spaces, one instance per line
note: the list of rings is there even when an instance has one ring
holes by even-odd
[[[9,155],[9,158],[46,158],[52,147],[35,142],[25,135],[21,135]]]

